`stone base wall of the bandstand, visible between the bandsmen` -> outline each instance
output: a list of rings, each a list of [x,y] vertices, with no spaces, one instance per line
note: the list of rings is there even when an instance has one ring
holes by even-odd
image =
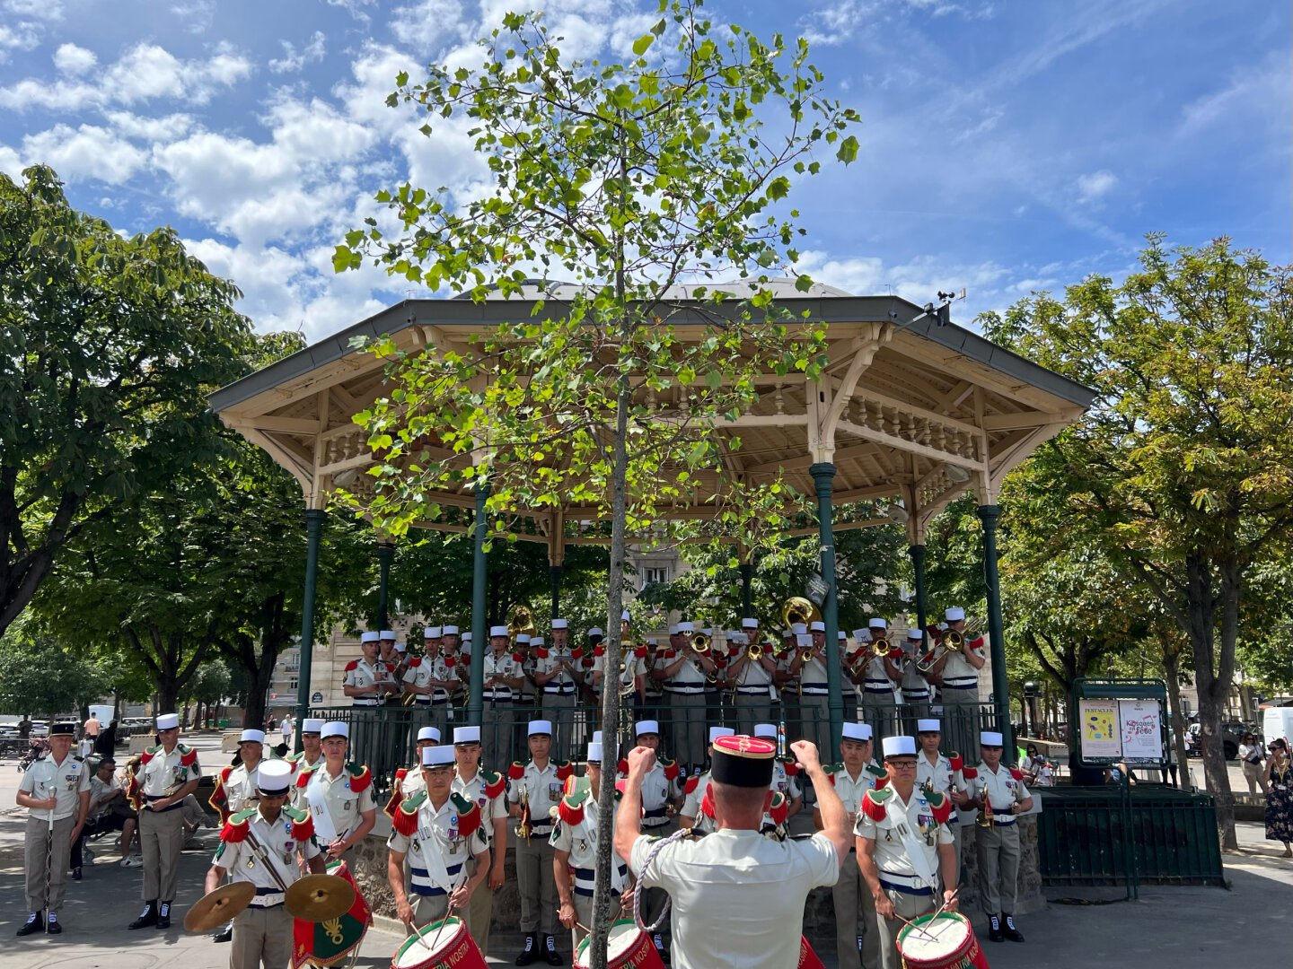
[[[1021,817],[1019,824],[1019,886],[1016,915],[1038,912],[1046,906],[1042,897],[1042,876],[1040,858],[1037,853],[1037,819]],[[380,832],[380,833],[379,833]],[[354,846],[350,859],[350,870],[363,897],[372,906],[374,915],[394,917],[394,898],[390,886],[387,884],[387,836],[390,832],[390,822],[384,815],[379,817],[374,833]],[[975,857],[974,824],[961,828],[961,911],[972,921],[981,921],[984,917],[979,907],[979,862]],[[503,888],[494,893],[494,929],[498,932],[515,932],[521,921],[521,894],[516,884],[516,853],[513,851],[515,835],[508,836],[508,849],[506,871],[507,880]],[[808,895],[804,906],[804,935],[812,942],[830,942],[835,939],[835,910],[830,901],[830,889],[816,889]]]

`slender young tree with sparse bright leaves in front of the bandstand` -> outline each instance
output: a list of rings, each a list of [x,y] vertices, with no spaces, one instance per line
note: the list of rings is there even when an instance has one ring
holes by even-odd
[[[493,185],[462,207],[412,185],[383,191],[400,231],[388,236],[374,220],[334,258],[344,270],[371,255],[411,282],[477,300],[522,295],[528,276],[550,273],[577,284],[560,305],[540,304],[467,349],[400,355],[376,341],[374,353],[397,359],[389,398],[359,415],[384,455],[367,510],[400,531],[440,510],[429,490],[463,481],[487,488],[495,516],[599,509],[612,523],[610,668],[630,536],[710,497],[721,497],[733,528],[784,513],[780,482],[723,477],[715,428],[753,403],[759,375],[815,377],[824,366],[822,327],[787,320],[768,273],[798,258],[802,230],[784,199],[796,177],[820,171],[813,152],[846,163],[857,154],[847,133],[857,116],[824,96],[806,41],[764,44],[734,25],[716,28],[698,8],[662,3],[623,65],[570,61],[540,16],[507,14],[475,70],[432,66],[416,84],[401,75],[389,103],[424,107],[428,134],[440,119],[465,116]],[[714,286],[732,276],[747,279],[738,293]],[[431,435],[476,464],[434,460]],[[617,702],[604,691],[608,736]],[[613,795],[604,786],[597,965]]]

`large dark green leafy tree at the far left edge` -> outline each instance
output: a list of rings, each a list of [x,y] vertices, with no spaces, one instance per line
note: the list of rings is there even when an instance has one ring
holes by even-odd
[[[175,230],[122,238],[23,177],[0,174],[0,630],[83,528],[193,460],[251,331]]]

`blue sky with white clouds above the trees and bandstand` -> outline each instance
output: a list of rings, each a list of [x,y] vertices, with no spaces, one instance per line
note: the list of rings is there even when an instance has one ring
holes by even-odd
[[[568,47],[623,50],[653,3],[550,0]],[[465,189],[467,138],[385,107],[520,0],[0,0],[0,171],[47,162],[119,230],[172,224],[261,329],[334,332],[414,293],[331,251],[412,177]],[[1089,273],[1148,231],[1290,260],[1290,12],[1270,0],[711,0],[813,43],[859,160],[796,189],[815,278],[956,319]]]

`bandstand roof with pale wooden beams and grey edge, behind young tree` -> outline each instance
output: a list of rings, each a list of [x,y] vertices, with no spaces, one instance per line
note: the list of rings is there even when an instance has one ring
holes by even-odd
[[[544,313],[560,314],[560,287],[548,293]],[[901,497],[913,543],[923,541],[924,523],[967,490],[981,504],[994,503],[1005,474],[1094,399],[1089,388],[968,329],[940,327],[922,307],[895,296],[850,296],[826,286],[802,295],[786,284],[777,302],[793,317],[807,310],[811,320],[828,324],[830,364],[817,382],[773,373],[759,380],[756,404],[719,425],[720,435],[741,438],[740,448],[724,455],[725,470],[750,482],[784,473],[791,487],[812,495],[809,465],[833,461],[835,505]],[[683,340],[698,336],[712,317],[712,306],[671,305],[679,307],[670,322]],[[530,319],[533,306],[533,300],[516,297],[405,300],[222,388],[211,395],[211,407],[296,477],[309,506],[322,508],[335,487],[362,491],[370,481],[363,470],[375,459],[366,433],[350,419],[390,389],[385,360],[353,349],[354,337],[389,336],[414,353],[462,351],[482,329]],[[693,483],[697,497],[679,506],[676,517],[712,513],[706,497],[721,490],[719,475]],[[475,505],[467,490],[436,499],[445,506]],[[521,537],[578,541],[566,522],[577,530],[578,522],[597,517],[578,506],[540,512],[534,516],[537,534]]]

